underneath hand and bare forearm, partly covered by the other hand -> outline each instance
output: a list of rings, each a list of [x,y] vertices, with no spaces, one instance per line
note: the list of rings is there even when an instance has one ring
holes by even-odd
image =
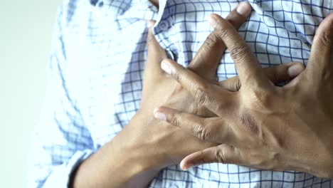
[[[245,15],[233,11],[227,19],[232,27],[238,28],[249,15],[250,9]],[[203,43],[188,70],[200,75],[208,83],[236,91],[240,86],[238,78],[221,83],[216,81],[217,61],[223,56],[221,51],[224,51],[226,46],[222,41],[216,43],[213,38],[216,38],[215,32]],[[179,127],[154,118],[152,110],[159,105],[205,117],[215,114],[196,103],[191,93],[160,68],[160,62],[166,59],[166,53],[154,38],[151,28],[147,48],[139,111],[120,134],[80,164],[72,175],[72,187],[146,187],[164,167],[178,164],[193,152],[218,145],[204,142],[189,132],[179,130]],[[219,56],[212,56],[218,52],[221,53]],[[290,67],[296,68],[292,74],[288,74]],[[303,69],[300,63],[289,63],[265,68],[264,72],[273,82],[278,83],[291,80]]]

